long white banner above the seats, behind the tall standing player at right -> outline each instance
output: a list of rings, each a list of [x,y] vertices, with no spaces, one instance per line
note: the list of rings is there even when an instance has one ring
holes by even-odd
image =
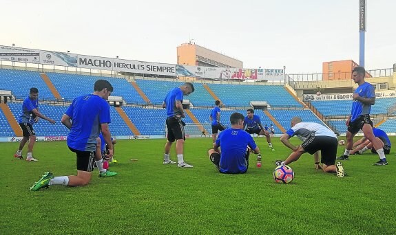
[[[352,100],[353,93],[332,93],[332,94],[316,94],[316,95],[302,95],[304,102],[310,100]],[[396,91],[377,91],[375,98],[394,98]]]

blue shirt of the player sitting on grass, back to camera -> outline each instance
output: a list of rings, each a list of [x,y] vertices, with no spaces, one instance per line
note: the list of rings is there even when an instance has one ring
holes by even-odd
[[[255,149],[253,137],[241,129],[228,128],[220,132],[216,145],[221,146],[220,172],[244,173],[247,171],[245,155],[247,146]]]

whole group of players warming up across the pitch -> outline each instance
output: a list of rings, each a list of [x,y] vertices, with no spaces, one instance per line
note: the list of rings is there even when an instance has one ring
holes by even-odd
[[[353,108],[351,116],[346,125],[346,150],[339,159],[346,160],[353,148],[353,136],[362,129],[364,137],[373,145],[375,152],[379,155],[377,166],[388,164],[384,155],[383,144],[373,134],[373,122],[370,120],[371,105],[375,103],[374,87],[364,81],[366,71],[363,67],[353,69],[353,80],[359,85],[353,94]],[[50,185],[64,186],[84,186],[90,182],[94,162],[98,167],[101,177],[116,175],[103,169],[103,159],[111,159],[114,154],[114,143],[112,142],[108,124],[110,123],[110,105],[107,98],[113,91],[113,87],[107,80],[97,80],[94,84],[94,93],[75,98],[63,115],[61,122],[70,129],[67,135],[67,146],[76,154],[77,175],[54,177],[52,172],[45,172],[43,177],[30,187],[36,191]],[[180,87],[176,87],[167,93],[163,102],[163,108],[167,111],[167,142],[165,144],[165,154],[163,164],[176,164],[170,159],[170,149],[176,142],[177,164],[180,168],[192,168],[187,164],[183,156],[183,146],[185,142],[184,122],[185,110],[183,109],[183,96],[188,96],[194,92],[194,85],[186,82]],[[38,111],[37,89],[30,89],[30,96],[23,102],[23,114],[21,115],[21,128],[23,139],[19,150],[14,155],[21,158],[21,150],[28,140],[28,161],[37,161],[32,157],[32,146],[35,141],[32,123],[37,122],[37,117],[54,124],[55,121],[46,117]],[[247,117],[241,113],[233,113],[230,116],[231,128],[224,128],[220,123],[220,101],[216,101],[209,118],[212,121],[213,148],[208,151],[209,159],[216,165],[222,173],[244,173],[249,168],[249,150],[258,155],[261,160],[260,149],[254,142],[251,134],[265,135],[269,148],[273,149],[269,131],[260,122],[260,117],[254,115],[253,109],[247,110]],[[33,122],[31,121],[33,117]],[[221,131],[218,134],[218,131]],[[99,135],[102,138],[98,138]],[[218,134],[218,136],[217,136]],[[294,146],[289,139],[297,136],[302,140],[302,144]],[[362,139],[362,142],[364,140]],[[345,172],[341,162],[337,162],[337,136],[333,131],[321,124],[302,122],[300,117],[293,117],[291,128],[280,137],[281,142],[293,150],[284,161],[275,161],[277,166],[291,164],[297,161],[303,153],[314,155],[315,168],[322,168],[324,172],[337,173],[338,177],[344,177]],[[107,153],[104,154],[104,146],[107,146]],[[101,146],[101,147],[98,147]],[[360,146],[360,145],[359,145]],[[366,146],[365,146],[366,147]],[[364,147],[364,148],[365,148]],[[367,146],[369,148],[369,146]],[[98,153],[100,151],[100,153]],[[319,159],[319,151],[321,157]],[[387,150],[388,151],[388,150]],[[103,153],[103,154],[102,154]],[[322,164],[322,165],[321,165]]]

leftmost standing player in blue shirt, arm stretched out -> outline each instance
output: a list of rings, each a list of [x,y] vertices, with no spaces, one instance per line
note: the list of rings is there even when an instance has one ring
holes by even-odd
[[[39,117],[47,120],[51,124],[55,124],[54,120],[50,117],[45,117],[45,115],[39,112],[39,89],[32,87],[29,91],[29,97],[23,100],[22,114],[19,116],[19,126],[22,128],[23,138],[21,143],[19,143],[19,148],[17,153],[14,154],[14,157],[23,159],[22,149],[29,140],[26,161],[37,161],[37,159],[32,156],[33,146],[36,142],[36,133],[34,133],[33,124],[34,122],[39,122]]]

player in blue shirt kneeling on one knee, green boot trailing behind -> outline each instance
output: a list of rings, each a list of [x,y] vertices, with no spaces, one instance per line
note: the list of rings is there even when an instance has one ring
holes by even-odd
[[[62,117],[62,124],[70,129],[67,135],[67,146],[76,153],[77,175],[54,177],[52,172],[45,172],[30,190],[37,191],[40,188],[52,184],[64,186],[85,186],[92,177],[94,157],[96,150],[96,138],[102,132],[108,146],[109,157],[113,156],[113,144],[109,130],[110,105],[107,99],[113,91],[113,87],[107,80],[97,80],[94,85],[94,93],[75,98]],[[105,171],[102,159],[96,159],[99,177],[111,177],[116,172]]]

